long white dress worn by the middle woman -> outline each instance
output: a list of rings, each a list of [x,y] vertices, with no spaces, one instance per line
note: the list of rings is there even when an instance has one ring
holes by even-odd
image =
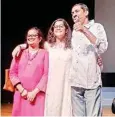
[[[69,70],[71,50],[49,48],[49,77],[46,91],[45,116],[71,116]]]

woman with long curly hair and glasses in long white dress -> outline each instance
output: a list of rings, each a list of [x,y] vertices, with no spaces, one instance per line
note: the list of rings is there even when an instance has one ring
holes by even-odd
[[[71,66],[71,30],[64,19],[55,20],[47,36],[49,77],[46,90],[45,115],[71,116],[69,70]]]

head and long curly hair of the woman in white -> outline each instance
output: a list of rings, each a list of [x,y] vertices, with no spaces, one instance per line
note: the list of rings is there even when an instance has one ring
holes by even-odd
[[[47,41],[51,47],[62,41],[65,49],[71,48],[71,28],[63,18],[56,19],[50,26],[47,35]]]

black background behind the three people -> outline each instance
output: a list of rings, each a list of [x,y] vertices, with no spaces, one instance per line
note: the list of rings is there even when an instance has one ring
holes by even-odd
[[[4,71],[10,67],[11,53],[16,45],[24,43],[25,32],[32,26],[40,28],[44,35],[51,23],[57,18],[64,18],[73,25],[71,8],[76,3],[85,3],[89,7],[89,19],[95,17],[95,0],[2,0],[1,2],[1,89],[4,85]],[[114,75],[110,77],[114,77]],[[108,74],[102,74],[104,86],[115,86],[115,78],[108,80]],[[2,102],[12,101],[13,93],[1,90]]]

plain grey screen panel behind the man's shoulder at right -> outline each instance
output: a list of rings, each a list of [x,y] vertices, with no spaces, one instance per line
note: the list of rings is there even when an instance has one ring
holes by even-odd
[[[95,0],[95,20],[104,25],[109,42],[103,72],[115,73],[115,0]]]

